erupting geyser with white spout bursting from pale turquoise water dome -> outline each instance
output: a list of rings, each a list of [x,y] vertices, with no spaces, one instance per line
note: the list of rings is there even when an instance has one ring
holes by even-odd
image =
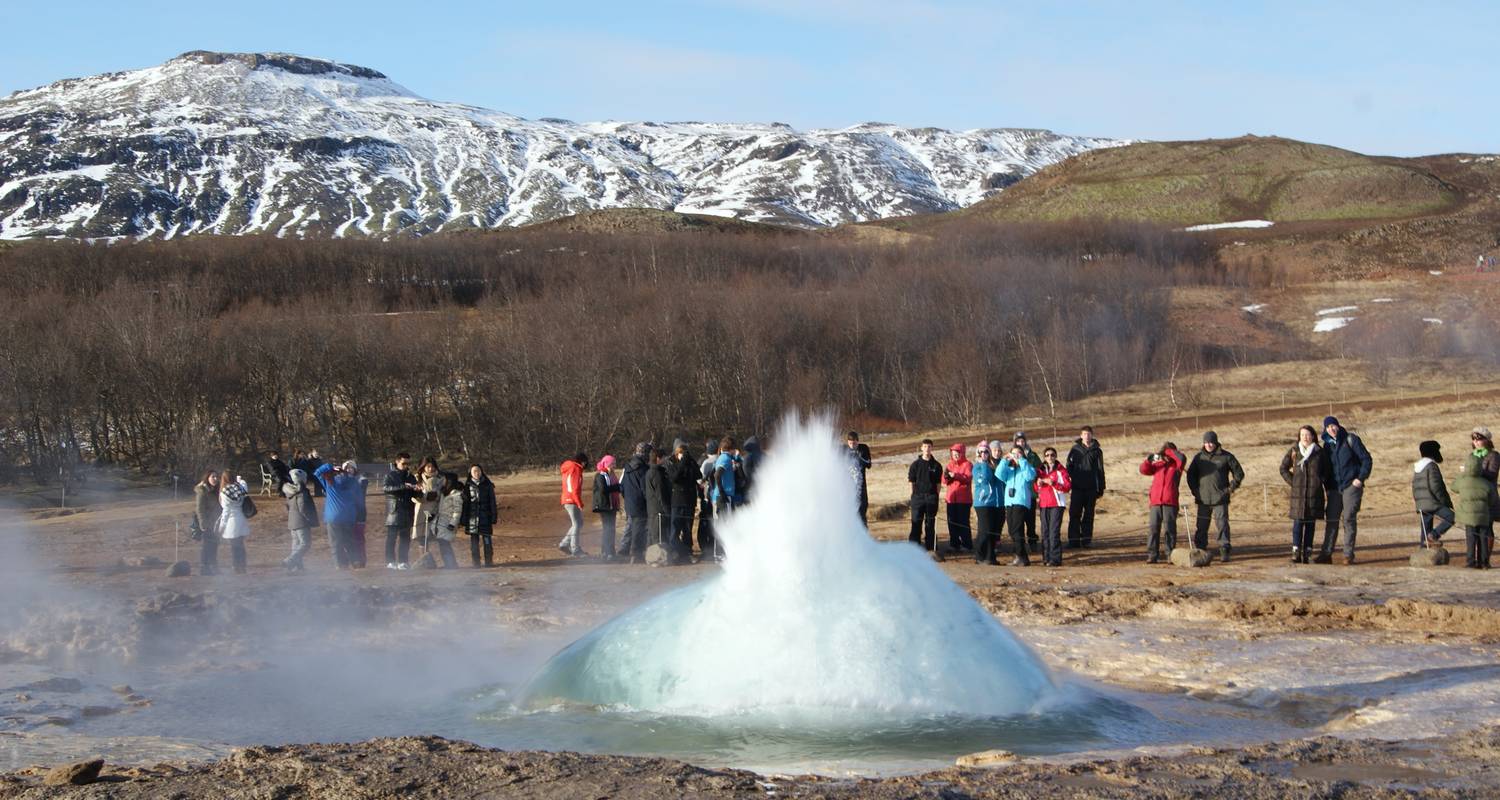
[[[921,549],[878,543],[826,419],[788,419],[754,500],[718,525],[722,575],[592,630],[532,678],[532,708],[585,704],[776,719],[1011,716],[1047,668]]]

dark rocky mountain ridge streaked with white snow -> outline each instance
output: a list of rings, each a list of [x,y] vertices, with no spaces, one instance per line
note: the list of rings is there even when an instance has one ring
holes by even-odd
[[[610,207],[819,227],[952,210],[1116,144],[525,120],[358,66],[195,51],[0,99],[0,239],[424,234]]]

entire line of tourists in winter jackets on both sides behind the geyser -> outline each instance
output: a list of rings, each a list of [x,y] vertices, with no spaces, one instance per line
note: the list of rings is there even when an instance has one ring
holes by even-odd
[[[1454,527],[1464,530],[1466,566],[1488,569],[1494,548],[1492,522],[1500,519],[1500,453],[1488,428],[1474,428],[1472,449],[1458,470],[1452,491],[1443,479],[1443,453],[1437,441],[1418,446],[1412,494],[1419,521],[1420,546],[1442,543]],[[950,552],[972,554],[980,564],[999,566],[1002,554],[1011,566],[1030,566],[1032,557],[1044,566],[1062,566],[1065,549],[1094,543],[1095,507],[1106,491],[1104,450],[1094,429],[1083,426],[1066,455],[1056,447],[1035,452],[1024,432],[1010,443],[981,440],[972,447],[956,443],[942,461],[932,440],[922,440],[918,456],[908,467],[910,485],[909,540],[927,551],[938,551],[936,521],[945,507]],[[861,521],[867,519],[870,498],[867,473],[873,464],[870,447],[854,431],[844,438],[849,477]],[[642,563],[657,545],[654,563],[696,563],[723,558],[714,536],[714,521],[724,519],[752,501],[762,452],[750,437],[741,446],[734,437],[706,441],[704,455],[676,440],[668,449],[639,443],[621,467],[604,455],[592,464],[586,453],[574,453],[560,468],[561,504],[567,530],[558,549],[570,557],[585,557],[585,507],[598,521],[598,557],[603,561]],[[618,468],[616,468],[618,467]],[[1329,416],[1322,431],[1304,425],[1296,441],[1281,458],[1280,473],[1288,486],[1292,521],[1292,561],[1334,563],[1342,543],[1342,563],[1354,563],[1359,536],[1359,510],[1372,459],[1358,434]],[[1191,539],[1185,548],[1208,551],[1209,531],[1215,534],[1218,558],[1232,557],[1230,504],[1245,482],[1245,470],[1218,434],[1203,434],[1202,446],[1190,458],[1173,441],[1144,453],[1138,471],[1150,479],[1146,516],[1146,563],[1160,563],[1178,549],[1178,518],[1182,485],[1192,500]],[[366,495],[369,479],[352,461],[322,462],[316,450],[300,450],[292,464],[268,453],[266,473],[286,504],[291,554],[282,561],[288,572],[302,572],[316,528],[328,536],[336,569],[363,569],[366,563]],[[585,485],[590,498],[585,501]],[[322,495],[320,512],[315,495]],[[484,468],[471,464],[465,476],[444,471],[436,459],[423,459],[416,471],[411,456],[398,453],[392,461],[381,494],[386,500],[386,567],[412,567],[412,543],[422,549],[423,566],[454,569],[454,540],[468,537],[470,564],[494,566],[494,530],[498,521],[495,485]],[[1456,501],[1454,497],[1456,495]],[[201,540],[201,570],[218,572],[220,540],[231,548],[234,572],[246,570],[244,539],[255,516],[249,485],[230,471],[208,471],[195,489],[196,513],[194,539]],[[624,513],[624,527],[620,515]],[[1064,519],[1066,516],[1066,521]],[[1316,540],[1323,522],[1322,543]],[[694,527],[696,524],[696,527]],[[1010,540],[1002,534],[1010,531]],[[618,533],[618,536],[616,536]],[[1342,534],[1342,536],[1341,536]],[[432,555],[436,548],[436,557]]]

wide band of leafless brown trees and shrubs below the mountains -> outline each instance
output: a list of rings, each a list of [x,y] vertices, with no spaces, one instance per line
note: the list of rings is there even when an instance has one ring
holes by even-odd
[[[38,479],[291,444],[543,462],[788,407],[974,423],[1203,366],[1168,290],[1246,279],[1120,224],[27,243],[0,275],[0,461]]]

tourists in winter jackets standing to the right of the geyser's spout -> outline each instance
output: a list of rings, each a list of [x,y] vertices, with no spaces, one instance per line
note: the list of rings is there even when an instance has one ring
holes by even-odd
[[[850,447],[858,440],[849,434]],[[1412,497],[1416,503],[1419,545],[1442,543],[1455,525],[1464,528],[1464,566],[1490,569],[1494,525],[1500,519],[1500,453],[1496,453],[1488,428],[1474,428],[1473,444],[1452,494],[1443,482],[1442,447],[1437,441],[1418,446],[1413,465]],[[936,516],[939,497],[948,524],[948,549],[972,552],[981,564],[999,566],[1005,549],[1002,531],[1010,528],[1010,566],[1030,566],[1040,555],[1046,566],[1062,566],[1064,548],[1088,548],[1094,542],[1094,515],[1104,494],[1104,452],[1094,429],[1083,426],[1078,438],[1059,458],[1054,447],[1038,455],[1017,432],[1006,444],[980,441],[969,461],[968,447],[956,443],[948,461],[933,453],[932,440],[922,440],[920,455],[908,468],[910,483],[910,533],[908,539],[928,551],[938,549]],[[868,468],[868,456],[864,456]],[[1359,536],[1359,510],[1374,461],[1358,434],[1338,417],[1323,420],[1323,429],[1304,425],[1298,440],[1281,458],[1280,473],[1288,486],[1287,516],[1292,519],[1292,563],[1334,563],[1342,534],[1342,563],[1354,563]],[[864,491],[862,470],[856,482]],[[1182,513],[1182,483],[1192,498],[1192,537],[1184,545],[1209,549],[1209,530],[1221,561],[1228,561],[1230,501],[1245,482],[1245,470],[1234,453],[1224,449],[1218,434],[1203,434],[1202,447],[1190,459],[1176,443],[1166,441],[1140,462],[1140,474],[1150,477],[1146,516],[1146,563],[1162,561],[1164,552],[1178,549],[1178,516]],[[1458,501],[1452,495],[1458,495]],[[970,513],[972,512],[972,513]],[[864,509],[861,506],[861,515]],[[1066,543],[1064,543],[1066,513]],[[1323,540],[1316,542],[1323,522]],[[1040,524],[1038,524],[1040,522]]]

